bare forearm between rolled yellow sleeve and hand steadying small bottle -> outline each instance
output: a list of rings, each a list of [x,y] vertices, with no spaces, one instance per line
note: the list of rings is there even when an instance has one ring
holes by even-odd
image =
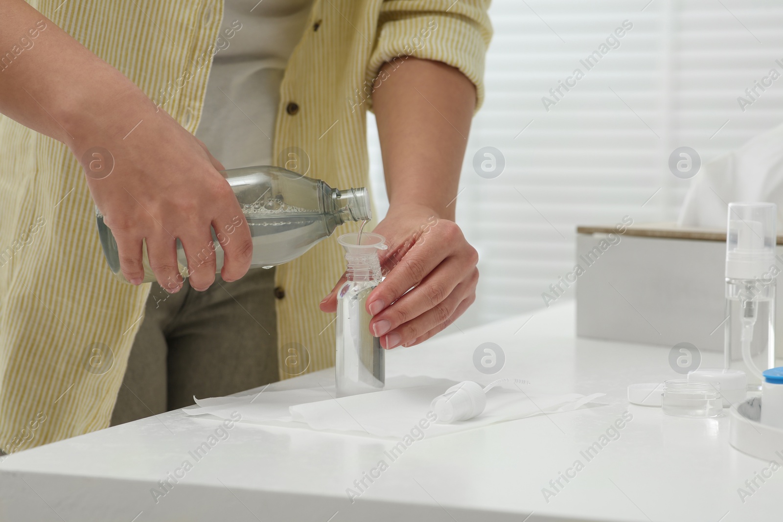
[[[420,204],[454,219],[475,87],[454,67],[427,59],[386,63],[373,92],[389,204]]]

